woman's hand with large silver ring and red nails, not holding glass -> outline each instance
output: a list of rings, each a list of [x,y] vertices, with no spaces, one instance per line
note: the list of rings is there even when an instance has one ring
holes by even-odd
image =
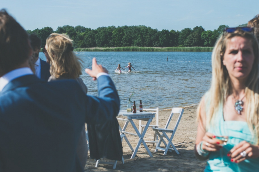
[[[255,146],[246,141],[242,141],[234,146],[227,154],[231,162],[239,163],[249,158],[259,157],[259,146]]]

